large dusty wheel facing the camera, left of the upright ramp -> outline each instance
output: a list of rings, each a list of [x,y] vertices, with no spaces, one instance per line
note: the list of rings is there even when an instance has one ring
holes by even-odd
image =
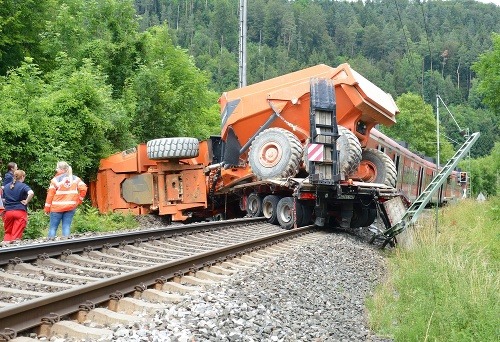
[[[283,128],[268,128],[252,142],[248,157],[257,178],[286,178],[297,174],[302,152],[295,135]]]

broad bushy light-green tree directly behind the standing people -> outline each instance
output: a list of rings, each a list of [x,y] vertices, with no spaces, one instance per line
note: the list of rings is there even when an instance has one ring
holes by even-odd
[[[0,156],[28,175],[40,203],[58,160],[85,180],[99,160],[134,141],[125,110],[105,77],[90,62],[58,59],[43,75],[31,59],[0,79]]]

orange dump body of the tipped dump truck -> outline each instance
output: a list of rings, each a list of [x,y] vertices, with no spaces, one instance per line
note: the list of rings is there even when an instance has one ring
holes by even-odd
[[[219,99],[222,109],[222,139],[233,130],[240,146],[245,146],[266,121],[268,127],[294,132],[301,141],[310,136],[310,80],[331,79],[337,98],[337,123],[368,142],[376,124],[391,126],[399,112],[392,96],[354,71],[349,64],[336,68],[320,64],[284,76],[225,92]],[[231,142],[233,143],[233,142]]]

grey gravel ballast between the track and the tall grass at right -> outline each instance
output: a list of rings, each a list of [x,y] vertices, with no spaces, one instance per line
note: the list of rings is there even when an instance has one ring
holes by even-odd
[[[370,332],[364,305],[383,275],[376,247],[324,233],[142,323],[112,327],[113,341],[390,341]]]

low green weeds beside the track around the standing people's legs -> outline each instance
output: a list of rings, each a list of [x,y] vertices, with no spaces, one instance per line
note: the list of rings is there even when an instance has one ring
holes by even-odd
[[[103,215],[92,207],[88,201],[85,201],[78,207],[73,218],[71,234],[114,232],[137,228],[138,225],[135,216],[131,214],[110,213]],[[23,233],[23,240],[43,238],[48,235],[48,232],[49,216],[45,215],[43,210],[30,211],[28,225]],[[0,220],[0,240],[3,239],[3,235],[3,222]],[[59,227],[57,235],[61,235],[61,227]]]

